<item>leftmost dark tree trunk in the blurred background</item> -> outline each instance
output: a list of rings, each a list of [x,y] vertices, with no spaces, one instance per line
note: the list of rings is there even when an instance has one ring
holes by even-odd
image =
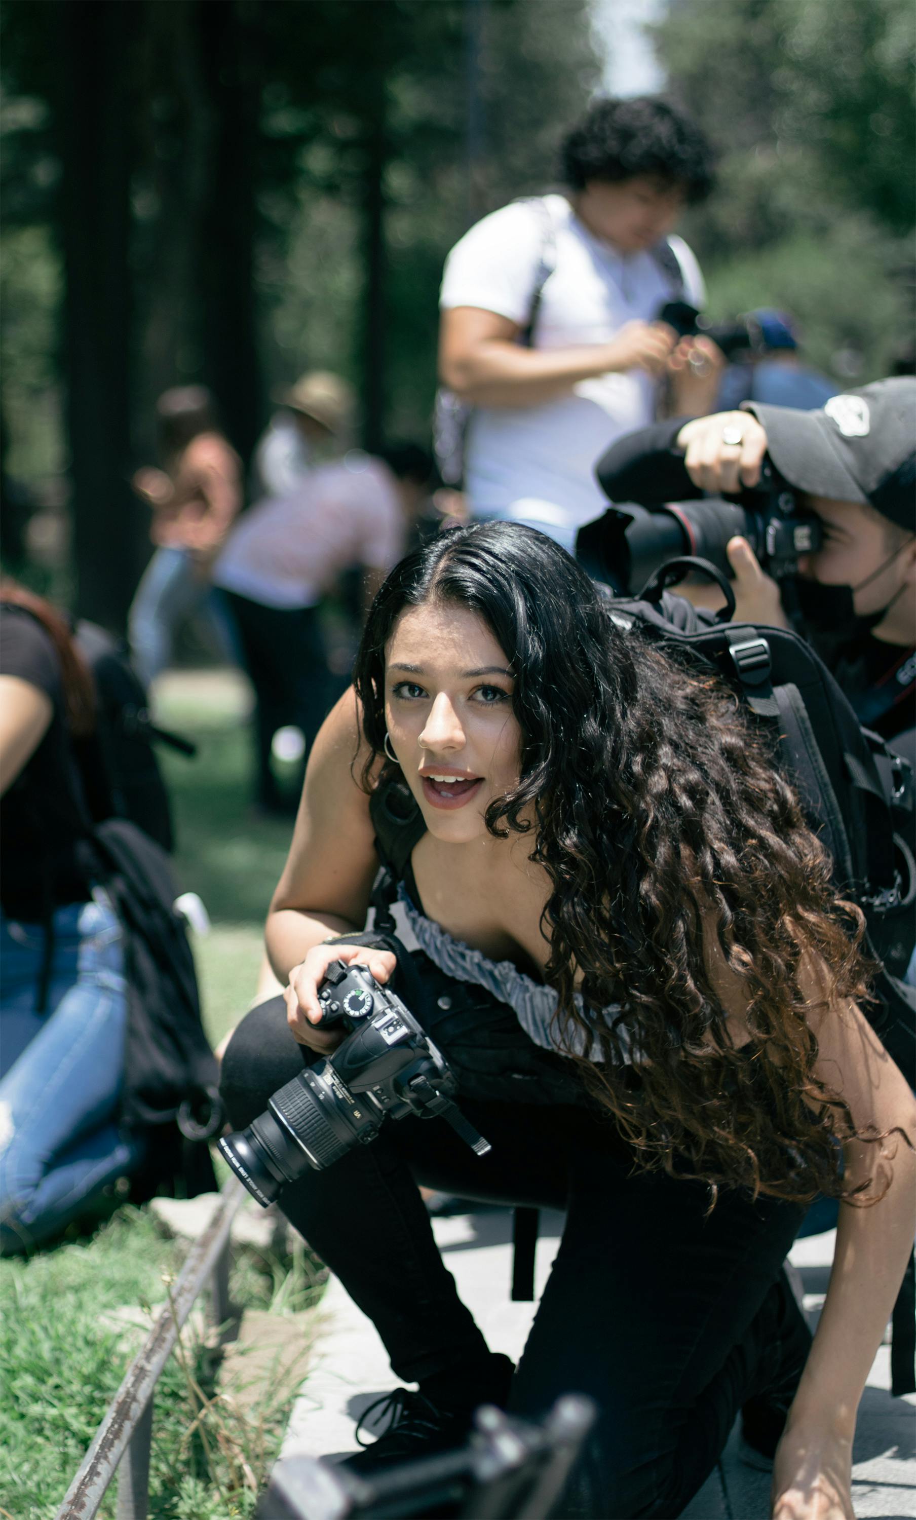
[[[131,88],[140,6],[64,0],[58,111],[76,603],[123,628],[144,523],[131,468]]]

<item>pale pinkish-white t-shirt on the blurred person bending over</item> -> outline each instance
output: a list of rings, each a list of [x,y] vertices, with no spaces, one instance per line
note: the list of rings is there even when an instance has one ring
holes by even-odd
[[[289,496],[257,502],[238,518],[213,568],[213,584],[264,606],[314,606],[351,565],[390,570],[406,524],[380,459],[352,450],[316,465]]]

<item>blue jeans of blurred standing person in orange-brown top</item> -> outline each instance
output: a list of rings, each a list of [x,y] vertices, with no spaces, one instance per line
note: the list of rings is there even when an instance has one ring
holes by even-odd
[[[129,613],[131,654],[146,687],[172,664],[182,623],[202,617],[225,660],[238,664],[229,614],[219,593],[194,570],[187,549],[156,549],[134,594]]]

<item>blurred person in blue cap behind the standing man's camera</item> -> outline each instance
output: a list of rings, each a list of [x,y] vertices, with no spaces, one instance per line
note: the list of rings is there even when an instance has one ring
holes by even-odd
[[[837,394],[840,386],[802,359],[798,324],[790,312],[758,307],[741,318],[741,325],[753,347],[725,369],[715,412],[734,412],[743,401],[808,412]]]

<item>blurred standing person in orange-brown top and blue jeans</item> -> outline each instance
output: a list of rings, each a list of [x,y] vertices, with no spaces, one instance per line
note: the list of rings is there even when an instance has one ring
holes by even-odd
[[[242,508],[242,461],[219,427],[205,386],[178,386],[156,401],[163,468],[132,479],[152,508],[155,552],[134,602],[128,629],[131,654],[146,687],[172,663],[179,628],[193,617],[208,625],[211,643],[234,657],[232,634],[210,572]]]

